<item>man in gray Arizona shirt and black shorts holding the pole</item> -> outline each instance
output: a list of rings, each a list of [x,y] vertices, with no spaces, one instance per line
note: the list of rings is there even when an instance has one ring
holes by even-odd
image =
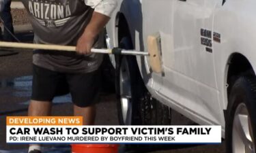
[[[116,0],[21,0],[29,12],[36,44],[76,46],[77,52],[35,50],[33,86],[29,116],[50,116],[55,95],[72,95],[74,116],[83,116],[83,124],[94,124],[100,86],[100,32],[117,5]],[[68,87],[68,88],[67,88]],[[30,145],[29,153],[40,153],[39,145]]]

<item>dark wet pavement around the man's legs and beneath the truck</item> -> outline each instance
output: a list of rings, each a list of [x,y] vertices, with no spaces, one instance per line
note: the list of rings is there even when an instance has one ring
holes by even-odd
[[[1,51],[0,51],[1,52]],[[27,116],[27,107],[31,95],[31,50],[19,51],[12,56],[0,56],[0,153],[25,153],[27,145],[8,145],[5,143],[5,116]],[[117,109],[115,95],[101,94],[97,105],[96,124],[116,125]],[[53,101],[53,116],[72,116],[70,95],[56,97]],[[193,124],[184,116],[173,112],[173,124]],[[68,153],[70,146],[47,145],[44,152]],[[134,146],[134,148],[137,148]],[[123,150],[124,151],[124,150]],[[120,152],[123,152],[122,150]],[[224,153],[224,143],[205,146],[142,146],[139,152],[154,153]]]

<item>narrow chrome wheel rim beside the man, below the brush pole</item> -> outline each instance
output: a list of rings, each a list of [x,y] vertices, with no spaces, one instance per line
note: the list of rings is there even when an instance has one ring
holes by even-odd
[[[124,124],[132,124],[132,101],[131,101],[131,82],[130,72],[126,58],[122,59],[120,67],[120,102],[122,111],[122,120]]]

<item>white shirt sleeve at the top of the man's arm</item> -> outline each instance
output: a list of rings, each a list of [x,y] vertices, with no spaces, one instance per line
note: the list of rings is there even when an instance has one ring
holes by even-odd
[[[117,6],[117,0],[85,0],[85,5],[93,8],[95,12],[111,16]]]

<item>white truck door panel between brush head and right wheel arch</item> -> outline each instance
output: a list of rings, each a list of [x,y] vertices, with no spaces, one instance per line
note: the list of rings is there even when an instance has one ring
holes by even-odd
[[[162,41],[165,69],[160,94],[204,120],[219,124],[212,30],[214,7],[221,0],[173,0],[173,29]]]

